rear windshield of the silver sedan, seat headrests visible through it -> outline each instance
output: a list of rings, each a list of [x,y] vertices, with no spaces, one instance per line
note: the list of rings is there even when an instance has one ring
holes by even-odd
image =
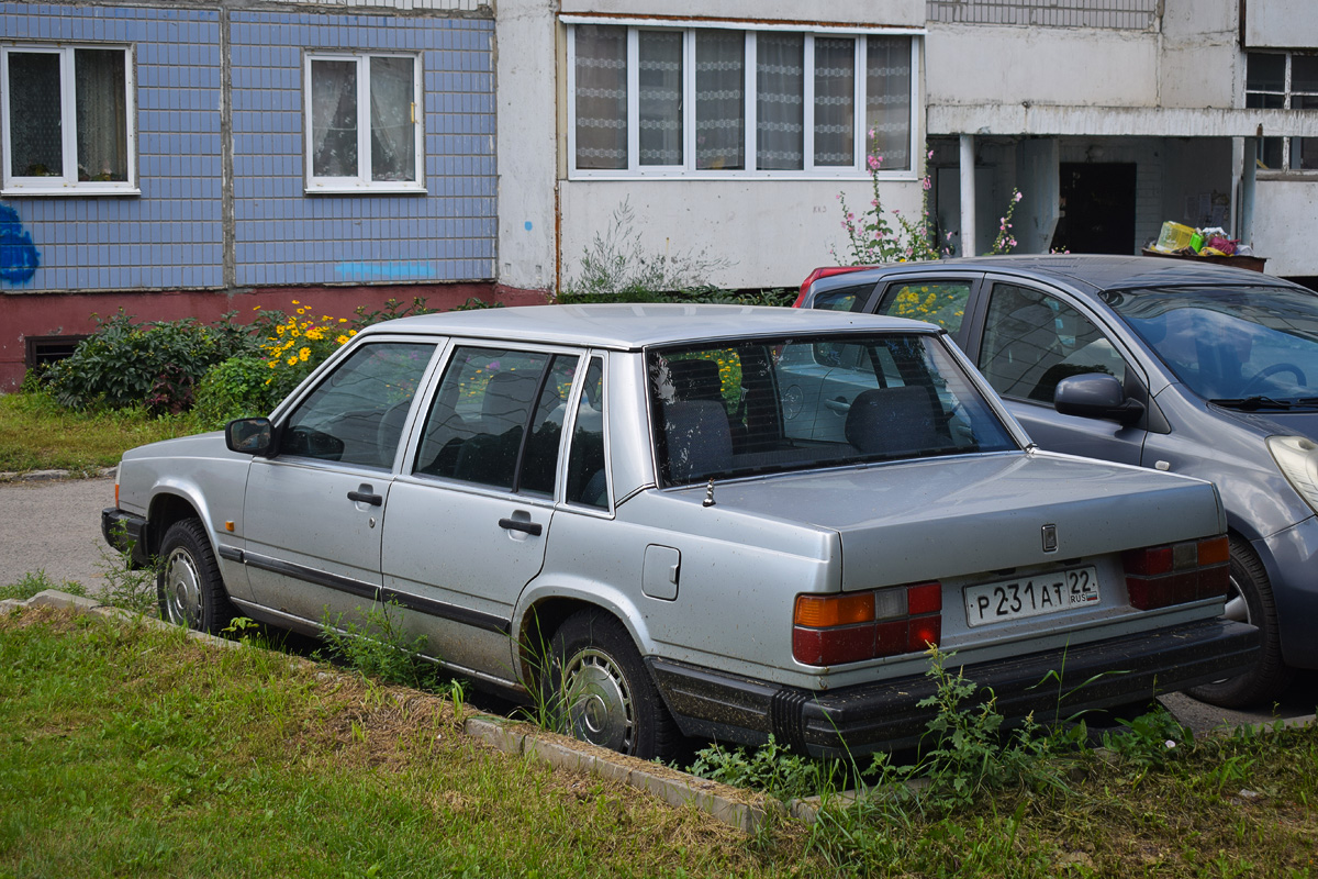
[[[1019,448],[927,333],[660,348],[647,370],[666,485]]]

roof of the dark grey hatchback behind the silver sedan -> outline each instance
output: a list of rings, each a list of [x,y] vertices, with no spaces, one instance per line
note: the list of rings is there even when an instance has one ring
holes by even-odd
[[[1007,271],[1044,281],[1065,281],[1091,290],[1128,290],[1166,286],[1251,286],[1292,287],[1281,278],[1195,260],[1147,256],[1107,256],[1094,253],[1048,253],[1035,256],[961,257],[929,262],[904,262],[873,269],[874,279],[888,274],[929,273],[931,270]],[[866,273],[869,275],[869,273]],[[869,279],[858,275],[833,275],[829,289],[845,285],[844,278]]]

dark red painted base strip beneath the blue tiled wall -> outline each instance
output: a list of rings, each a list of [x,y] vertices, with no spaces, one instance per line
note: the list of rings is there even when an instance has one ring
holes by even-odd
[[[426,307],[448,311],[469,298],[502,302],[505,306],[544,304],[543,290],[519,290],[489,282],[393,287],[270,287],[245,293],[70,293],[8,294],[0,297],[0,391],[13,390],[26,372],[29,336],[84,336],[96,329],[96,318],[108,318],[123,308],[138,320],[217,320],[228,311],[246,323],[256,307],[285,312],[297,310],[293,300],[308,306],[311,314],[333,318],[352,316],[357,306],[366,311],[382,308],[389,299],[410,304],[416,297]]]

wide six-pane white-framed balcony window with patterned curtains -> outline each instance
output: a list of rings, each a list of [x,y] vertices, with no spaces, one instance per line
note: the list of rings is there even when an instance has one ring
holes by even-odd
[[[572,171],[911,170],[913,38],[576,24]]]

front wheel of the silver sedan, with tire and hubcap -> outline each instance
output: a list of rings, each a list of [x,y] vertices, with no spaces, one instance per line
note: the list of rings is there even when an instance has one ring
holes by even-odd
[[[159,557],[156,597],[161,619],[216,635],[237,615],[200,519],[171,525],[161,540]]]

